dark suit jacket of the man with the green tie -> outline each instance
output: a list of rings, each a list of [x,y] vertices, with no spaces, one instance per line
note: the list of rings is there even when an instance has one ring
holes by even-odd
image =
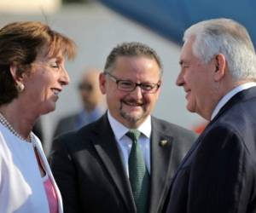
[[[195,139],[189,130],[152,118],[148,212],[162,208],[177,165]],[[167,141],[165,146],[160,146],[162,140]],[[55,139],[50,164],[66,213],[136,212],[107,114],[79,131]]]

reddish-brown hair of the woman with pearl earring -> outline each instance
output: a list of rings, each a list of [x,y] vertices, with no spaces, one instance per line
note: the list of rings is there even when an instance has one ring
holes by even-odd
[[[68,59],[75,56],[73,41],[41,22],[14,22],[0,29],[0,106],[18,96],[10,66],[19,67],[18,75],[29,72],[43,47],[48,48],[47,55],[50,56],[59,51],[63,51]]]

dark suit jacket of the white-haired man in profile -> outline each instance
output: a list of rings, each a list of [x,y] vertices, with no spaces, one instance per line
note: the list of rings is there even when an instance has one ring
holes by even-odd
[[[169,213],[256,212],[256,88],[228,101],[172,181]]]

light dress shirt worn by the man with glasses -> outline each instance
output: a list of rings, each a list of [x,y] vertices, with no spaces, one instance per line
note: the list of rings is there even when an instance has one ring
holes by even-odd
[[[127,176],[129,176],[129,155],[131,152],[132,141],[127,135],[125,135],[129,129],[125,127],[123,124],[120,124],[108,111],[108,120],[110,126],[113,130],[113,134],[117,145],[119,147],[119,153],[123,160],[123,164],[125,166],[125,171]],[[148,169],[148,173],[150,174],[150,135],[151,135],[151,116],[148,116],[146,120],[141,124],[137,130],[139,130],[142,135],[139,138],[139,145],[143,151],[143,157],[145,164]]]

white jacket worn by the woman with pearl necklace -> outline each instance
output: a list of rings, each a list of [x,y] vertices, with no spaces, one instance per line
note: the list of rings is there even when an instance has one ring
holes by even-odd
[[[61,193],[56,186],[41,142],[33,135],[38,155],[55,187],[59,213]],[[49,213],[44,182],[32,143],[20,140],[0,123],[0,213]]]

